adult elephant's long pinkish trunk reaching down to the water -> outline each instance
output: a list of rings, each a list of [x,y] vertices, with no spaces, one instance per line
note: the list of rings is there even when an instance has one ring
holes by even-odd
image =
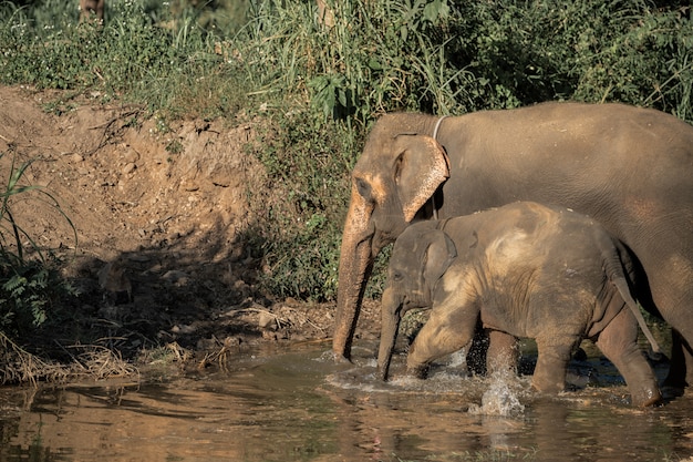
[[[351,343],[361,311],[365,285],[373,268],[371,243],[373,233],[369,233],[372,206],[359,195],[355,188],[351,203],[339,263],[339,289],[337,294],[337,314],[332,351],[335,359],[351,358]]]

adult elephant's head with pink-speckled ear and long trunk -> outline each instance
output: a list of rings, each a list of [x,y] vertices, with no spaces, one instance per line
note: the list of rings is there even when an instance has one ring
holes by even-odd
[[[435,117],[426,115],[407,125],[397,123],[396,115],[383,116],[352,172],[332,345],[337,358],[350,357],[375,256],[394,242],[449,176],[445,151],[435,141]]]

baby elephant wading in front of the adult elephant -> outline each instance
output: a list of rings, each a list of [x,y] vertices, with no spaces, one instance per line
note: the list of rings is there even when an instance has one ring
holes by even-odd
[[[436,358],[486,329],[534,338],[532,386],[565,389],[570,356],[591,339],[625,379],[633,404],[661,399],[638,348],[638,324],[659,350],[633,300],[627,249],[594,220],[565,208],[515,203],[410,226],[395,242],[382,299],[377,365],[383,380],[401,316],[432,308],[410,348],[407,370],[425,377]]]

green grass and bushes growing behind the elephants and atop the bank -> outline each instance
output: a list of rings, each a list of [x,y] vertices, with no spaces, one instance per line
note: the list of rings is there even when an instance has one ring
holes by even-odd
[[[283,199],[255,197],[266,208],[248,243],[270,294],[316,300],[335,296],[349,172],[384,112],[622,101],[693,121],[684,1],[327,3],[330,25],[308,0],[111,0],[96,27],[77,25],[76,0],[2,2],[0,82],[136,102],[163,121],[263,119],[250,150]]]

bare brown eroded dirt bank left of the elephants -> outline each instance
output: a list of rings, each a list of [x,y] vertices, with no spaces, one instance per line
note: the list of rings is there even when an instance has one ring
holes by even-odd
[[[257,290],[262,261],[242,235],[262,213],[251,209],[248,187],[267,182],[244,146],[261,123],[164,126],[135,105],[0,88],[3,181],[14,156],[35,160],[24,183],[49,192],[76,228],[75,242],[35,194],[12,205],[29,236],[66,258],[64,275],[82,294],[44,348],[70,359],[77,331],[125,359],[172,345],[199,358],[242,342],[329,339],[332,305]],[[360,332],[373,331],[374,315],[364,307]]]

